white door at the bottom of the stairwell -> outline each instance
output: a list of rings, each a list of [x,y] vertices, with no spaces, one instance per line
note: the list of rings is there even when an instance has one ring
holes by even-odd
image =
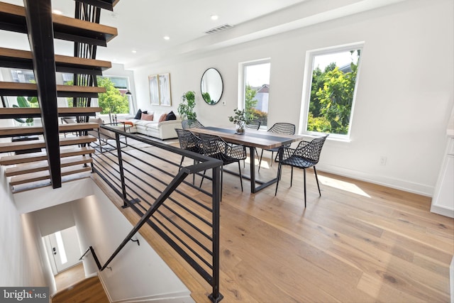
[[[52,255],[57,272],[61,272],[73,265],[81,262],[79,248],[79,238],[77,236],[76,226],[57,231],[46,236],[50,243],[50,255]]]

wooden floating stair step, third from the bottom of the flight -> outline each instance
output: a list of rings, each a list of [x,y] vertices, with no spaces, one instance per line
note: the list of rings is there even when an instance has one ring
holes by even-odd
[[[92,153],[95,153],[95,150],[91,147],[60,148],[60,158],[72,157],[74,155],[88,155]],[[48,155],[45,152],[27,153],[23,155],[5,155],[0,158],[0,165],[16,165],[42,160],[48,160]]]

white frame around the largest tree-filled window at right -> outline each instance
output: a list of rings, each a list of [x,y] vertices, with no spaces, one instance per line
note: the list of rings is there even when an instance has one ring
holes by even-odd
[[[312,74],[314,71],[314,58],[319,55],[328,55],[334,53],[342,53],[347,52],[350,50],[361,50],[361,55],[358,59],[358,72],[356,74],[355,79],[355,90],[353,92],[353,100],[352,106],[350,110],[350,119],[348,122],[348,133],[345,135],[338,134],[338,133],[330,133],[329,139],[330,140],[338,140],[338,141],[350,141],[351,130],[353,126],[353,116],[355,111],[355,104],[356,104],[356,94],[358,92],[358,83],[360,82],[360,70],[361,70],[361,63],[362,63],[362,56],[364,55],[364,46],[365,42],[360,41],[356,43],[349,43],[344,45],[336,45],[331,46],[328,48],[319,48],[316,50],[307,50],[306,51],[306,60],[305,60],[305,67],[304,67],[304,82],[303,82],[303,92],[301,96],[301,114],[300,114],[300,121],[299,121],[299,133],[304,133],[309,136],[320,136],[322,133],[318,131],[307,131],[307,123],[309,121],[309,105],[311,102],[311,86],[312,86]]]

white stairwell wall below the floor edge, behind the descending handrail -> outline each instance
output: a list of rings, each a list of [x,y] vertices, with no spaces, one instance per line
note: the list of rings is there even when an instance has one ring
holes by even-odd
[[[72,202],[80,247],[93,246],[101,264],[109,259],[133,226],[106,195],[94,184],[95,194]],[[148,243],[136,234],[140,246],[130,241],[100,272],[112,301],[125,299],[157,302],[193,302],[189,290],[157,255]],[[85,274],[97,271],[92,255],[84,258]],[[174,298],[167,301],[165,298]],[[178,299],[179,298],[179,299]],[[161,301],[160,301],[161,300]]]

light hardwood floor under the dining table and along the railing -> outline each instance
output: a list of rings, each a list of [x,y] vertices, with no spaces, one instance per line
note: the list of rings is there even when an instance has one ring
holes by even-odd
[[[322,153],[323,160],[323,153]],[[189,164],[189,162],[188,162]],[[245,170],[248,170],[246,165]],[[232,170],[238,169],[235,164]],[[260,174],[275,174],[277,164]],[[431,199],[319,172],[284,168],[275,186],[251,194],[224,173],[221,202],[222,302],[449,302],[454,219],[429,211]],[[138,216],[94,175],[133,223]],[[211,288],[148,226],[140,233],[192,291]]]

